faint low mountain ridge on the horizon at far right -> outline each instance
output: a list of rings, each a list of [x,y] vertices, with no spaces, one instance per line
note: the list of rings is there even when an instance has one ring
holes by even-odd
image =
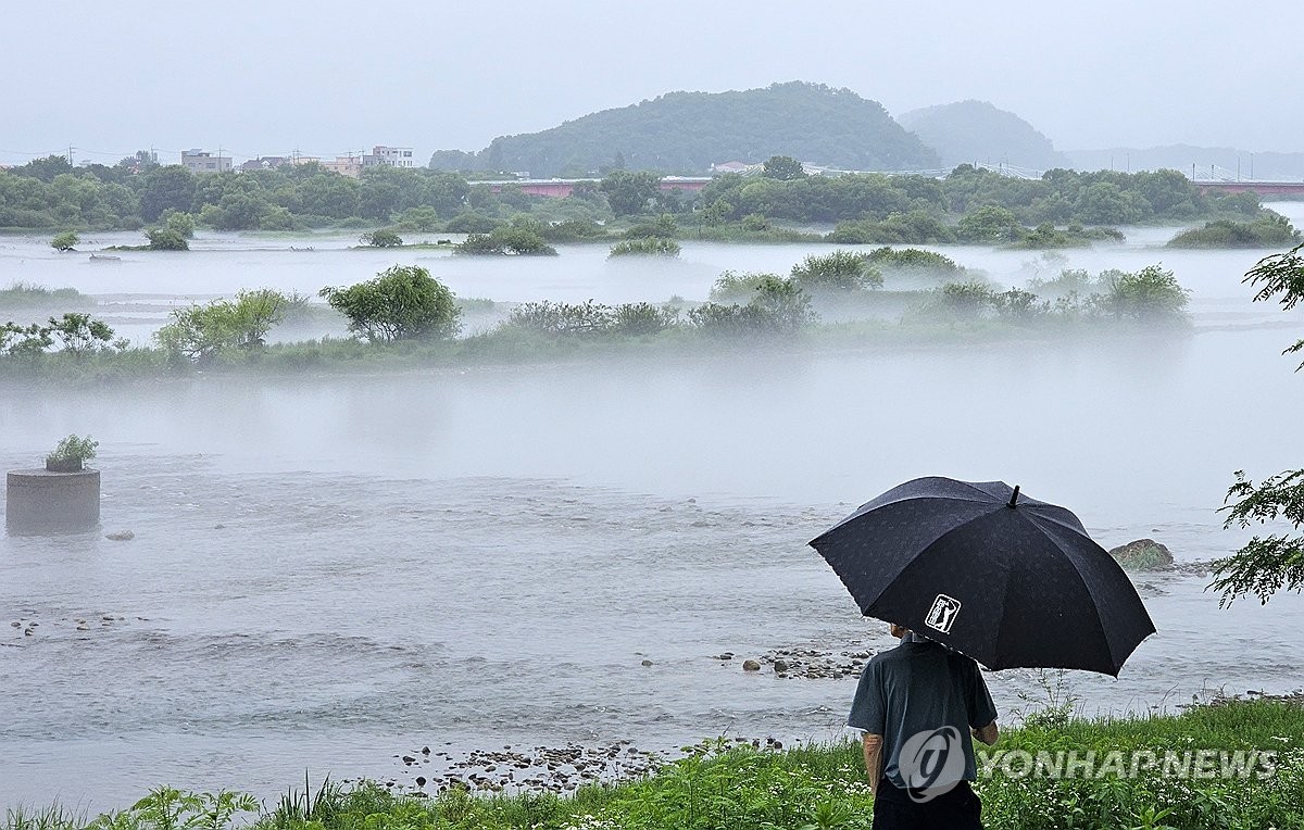
[[[1071,150],[1073,167],[1084,171],[1175,169],[1196,179],[1257,179],[1260,181],[1304,180],[1304,152],[1249,152],[1235,147],[1111,147],[1107,150]]]

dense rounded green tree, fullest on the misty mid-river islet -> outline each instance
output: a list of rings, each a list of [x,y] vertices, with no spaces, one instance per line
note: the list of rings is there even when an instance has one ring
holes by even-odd
[[[365,283],[322,288],[321,296],[370,343],[443,340],[460,328],[456,297],[420,266],[394,266]]]

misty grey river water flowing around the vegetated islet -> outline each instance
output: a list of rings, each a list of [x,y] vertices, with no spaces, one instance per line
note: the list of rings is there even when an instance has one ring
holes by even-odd
[[[1159,249],[1171,233],[1050,263],[945,253],[1005,284],[1162,261],[1193,291],[1196,331],[1176,339],[0,383],[5,469],[90,433],[103,470],[102,532],[0,538],[0,805],[102,810],[160,783],[274,797],[305,769],[402,779],[396,756],[422,745],[838,737],[853,678],[739,662],[889,645],[806,542],[917,476],[1021,483],[1107,547],[1223,555],[1249,536],[1217,512],[1232,470],[1300,464],[1304,377],[1281,351],[1304,314],[1251,302],[1241,275],[1270,251]],[[94,293],[143,340],[179,296],[310,293],[396,261],[462,296],[614,302],[704,298],[725,268],[827,250],[689,242],[630,265],[348,244],[201,236],[189,255],[93,265],[7,237],[0,284]],[[134,539],[104,538],[119,529]],[[1198,573],[1134,579],[1159,633],[1118,680],[1068,675],[1085,714],[1304,683],[1299,595],[1219,610]],[[988,679],[1005,721],[1041,694],[1033,672]]]

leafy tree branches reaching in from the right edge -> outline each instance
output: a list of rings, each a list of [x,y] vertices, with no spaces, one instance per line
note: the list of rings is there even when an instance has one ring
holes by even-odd
[[[1304,255],[1296,245],[1284,254],[1274,254],[1258,262],[1245,274],[1245,280],[1258,289],[1254,301],[1277,297],[1283,310],[1291,310],[1304,300]],[[1304,340],[1288,347],[1283,354],[1304,351]],[[1299,369],[1304,369],[1301,364]],[[1278,590],[1304,590],[1304,469],[1286,470],[1271,476],[1258,486],[1235,473],[1236,481],[1227,489],[1223,507],[1227,511],[1224,526],[1249,528],[1267,521],[1288,521],[1294,534],[1273,533],[1254,536],[1231,556],[1213,562],[1214,581],[1209,588],[1222,592],[1219,606],[1230,606],[1236,599],[1253,594],[1260,603],[1267,603]]]

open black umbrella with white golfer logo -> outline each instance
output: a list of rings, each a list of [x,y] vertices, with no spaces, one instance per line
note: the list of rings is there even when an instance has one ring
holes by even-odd
[[[915,478],[811,542],[866,616],[988,668],[1118,676],[1154,623],[1077,516],[1000,481]]]

